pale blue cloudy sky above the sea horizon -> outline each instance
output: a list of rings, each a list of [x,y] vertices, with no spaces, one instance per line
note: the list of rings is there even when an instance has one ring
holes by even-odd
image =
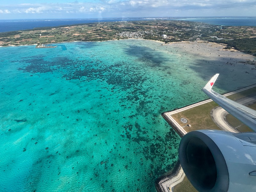
[[[256,0],[1,0],[0,19],[256,16]]]

